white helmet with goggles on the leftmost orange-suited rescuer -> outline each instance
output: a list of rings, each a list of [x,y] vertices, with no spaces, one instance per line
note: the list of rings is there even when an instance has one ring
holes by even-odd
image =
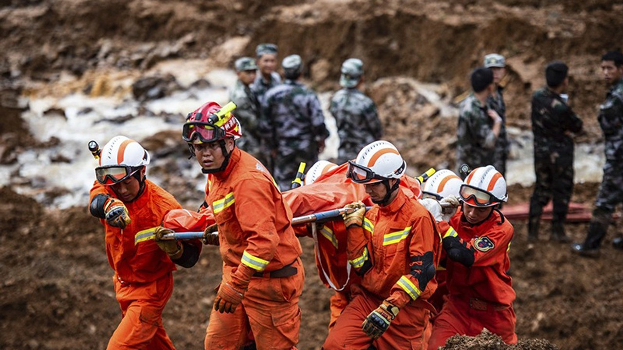
[[[140,143],[125,136],[115,136],[102,148],[95,177],[103,185],[117,184],[147,164],[150,164],[150,154]]]

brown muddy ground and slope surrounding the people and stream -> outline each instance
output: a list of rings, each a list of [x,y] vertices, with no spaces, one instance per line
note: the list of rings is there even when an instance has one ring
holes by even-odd
[[[573,77],[571,102],[586,126],[578,141],[598,143],[594,112],[605,92],[599,55],[621,46],[612,33],[623,27],[623,4],[606,0],[3,0],[0,6],[3,164],[16,161],[26,148],[55,142],[35,142],[29,135],[19,96],[125,93],[98,77],[118,72],[140,77],[173,59],[231,67],[236,57],[252,55],[265,41],[277,42],[283,55],[301,54],[305,78],[319,90],[336,88],[342,60],[363,59],[386,137],[416,169],[454,164],[456,120],[427,103],[412,78],[442,83],[439,92],[451,100],[467,89],[468,72],[493,51],[508,57],[510,126],[530,128],[530,92],[543,84],[543,65],[564,59]],[[140,141],[150,151],[161,149],[163,156],[184,154],[183,144],[167,146],[163,140],[169,139],[178,135]],[[168,170],[150,169],[184,206],[198,206],[194,185]],[[574,201],[592,206],[597,186],[578,184]],[[47,196],[58,195],[55,191],[60,190]],[[526,201],[530,193],[530,188],[511,187],[511,204]],[[120,312],[103,229],[88,215],[87,204],[50,209],[9,186],[0,189],[0,199],[0,348],[104,349]],[[548,349],[548,341],[560,349],[621,348],[623,253],[610,247],[611,237],[601,258],[584,259],[571,255],[566,245],[549,242],[546,224],[543,238],[530,245],[525,223],[513,224],[516,331],[526,341],[517,348]],[[618,222],[611,235],[620,233],[617,227]],[[568,233],[580,240],[586,229],[586,224],[570,224]],[[299,348],[318,349],[326,336],[331,293],[317,277],[311,240],[302,239],[302,245],[307,280]],[[217,250],[206,247],[196,267],[176,272],[164,324],[178,349],[202,348],[220,266]],[[461,341],[468,339],[452,349],[503,348]]]

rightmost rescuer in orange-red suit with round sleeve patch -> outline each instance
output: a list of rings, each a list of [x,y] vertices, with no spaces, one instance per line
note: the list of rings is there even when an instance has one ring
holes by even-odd
[[[513,225],[496,208],[508,199],[506,181],[493,166],[476,168],[461,185],[460,199],[462,210],[449,224],[439,222],[449,298],[433,323],[429,349],[455,334],[477,336],[483,328],[515,344],[515,290],[506,273]]]

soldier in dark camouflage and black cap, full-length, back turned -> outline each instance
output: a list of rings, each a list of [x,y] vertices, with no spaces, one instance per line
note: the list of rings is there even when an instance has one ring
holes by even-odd
[[[535,136],[535,191],[530,198],[528,239],[536,240],[543,207],[551,199],[551,240],[569,242],[564,220],[573,192],[573,138],[582,130],[582,120],[561,97],[569,85],[569,68],[552,62],[545,69],[547,87],[532,95],[532,132]]]

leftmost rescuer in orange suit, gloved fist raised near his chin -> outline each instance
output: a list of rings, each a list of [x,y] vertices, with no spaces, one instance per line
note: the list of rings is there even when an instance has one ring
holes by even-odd
[[[115,136],[100,153],[90,213],[105,227],[108,263],[121,306],[121,323],[108,342],[111,349],[174,349],[164,331],[162,312],[173,292],[175,263],[189,267],[201,242],[169,241],[168,253],[153,237],[164,215],[181,209],[168,192],[145,178],[149,153],[136,141]]]

